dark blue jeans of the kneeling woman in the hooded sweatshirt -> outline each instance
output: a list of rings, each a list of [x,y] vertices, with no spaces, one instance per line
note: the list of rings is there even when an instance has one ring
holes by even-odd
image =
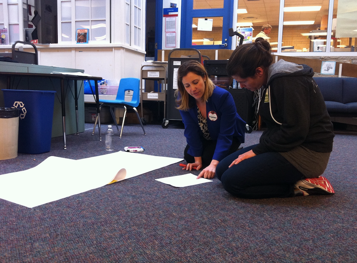
[[[228,168],[254,146],[243,148],[218,164],[216,175],[226,191],[250,199],[294,196],[294,184],[304,175],[278,152],[258,154]]]

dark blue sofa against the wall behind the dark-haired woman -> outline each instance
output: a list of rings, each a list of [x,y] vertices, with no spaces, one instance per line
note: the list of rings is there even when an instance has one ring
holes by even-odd
[[[331,117],[357,117],[357,78],[313,78]]]

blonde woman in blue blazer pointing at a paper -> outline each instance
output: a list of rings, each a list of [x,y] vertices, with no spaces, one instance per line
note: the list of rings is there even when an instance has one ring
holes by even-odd
[[[245,122],[231,93],[215,86],[198,61],[179,67],[176,95],[187,141],[184,169],[203,168],[198,177],[213,178],[218,163],[244,142]]]

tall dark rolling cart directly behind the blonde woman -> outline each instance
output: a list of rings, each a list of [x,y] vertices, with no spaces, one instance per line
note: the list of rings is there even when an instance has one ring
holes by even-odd
[[[191,51],[191,52],[188,52]],[[175,55],[173,55],[175,54]],[[193,55],[197,57],[193,57]],[[172,49],[168,56],[168,90],[166,98],[166,117],[163,120],[162,128],[166,129],[170,121],[182,121],[179,110],[176,108],[175,91],[177,86],[178,69],[186,61],[202,61],[201,52],[195,48],[175,48]]]

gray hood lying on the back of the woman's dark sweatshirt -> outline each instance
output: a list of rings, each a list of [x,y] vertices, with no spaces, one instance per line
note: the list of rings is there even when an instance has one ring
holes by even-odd
[[[298,65],[293,62],[287,62],[280,59],[276,63],[270,65],[268,69],[268,85],[275,78],[285,76],[310,76],[312,77],[314,72],[312,68],[307,65]]]

